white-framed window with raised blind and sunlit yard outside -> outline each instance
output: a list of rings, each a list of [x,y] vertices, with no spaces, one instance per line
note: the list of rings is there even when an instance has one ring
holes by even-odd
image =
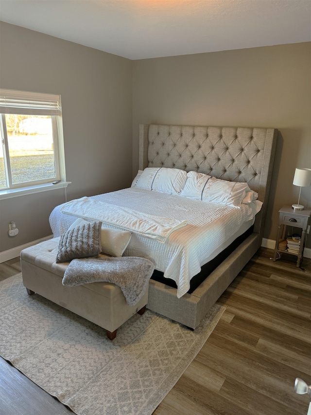
[[[66,181],[59,95],[0,89],[0,193]]]

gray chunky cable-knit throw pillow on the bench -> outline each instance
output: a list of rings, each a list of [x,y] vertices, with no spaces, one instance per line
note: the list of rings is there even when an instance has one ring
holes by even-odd
[[[102,251],[101,228],[102,222],[86,220],[75,226],[71,225],[68,231],[60,237],[56,262],[69,262],[74,258],[97,256]]]

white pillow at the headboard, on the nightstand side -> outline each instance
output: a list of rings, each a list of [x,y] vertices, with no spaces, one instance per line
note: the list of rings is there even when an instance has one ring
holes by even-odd
[[[241,206],[249,190],[247,183],[216,179],[203,173],[190,171],[180,196],[228,206]]]

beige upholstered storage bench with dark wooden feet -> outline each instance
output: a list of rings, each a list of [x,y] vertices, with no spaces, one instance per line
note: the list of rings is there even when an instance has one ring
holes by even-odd
[[[107,331],[110,340],[135,313],[142,315],[148,302],[148,287],[137,304],[129,306],[121,288],[108,282],[64,286],[69,262],[56,263],[60,238],[53,238],[21,251],[23,284],[28,294],[37,293]],[[100,254],[100,256],[105,256]]]

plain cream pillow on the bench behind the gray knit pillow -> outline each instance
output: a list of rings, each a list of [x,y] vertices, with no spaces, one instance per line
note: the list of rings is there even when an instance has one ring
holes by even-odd
[[[77,219],[70,225],[69,229],[75,228],[88,222],[82,217]],[[68,229],[68,230],[69,230]],[[122,256],[130,243],[132,234],[128,231],[121,231],[119,229],[104,228],[101,229],[102,252],[111,256]]]

